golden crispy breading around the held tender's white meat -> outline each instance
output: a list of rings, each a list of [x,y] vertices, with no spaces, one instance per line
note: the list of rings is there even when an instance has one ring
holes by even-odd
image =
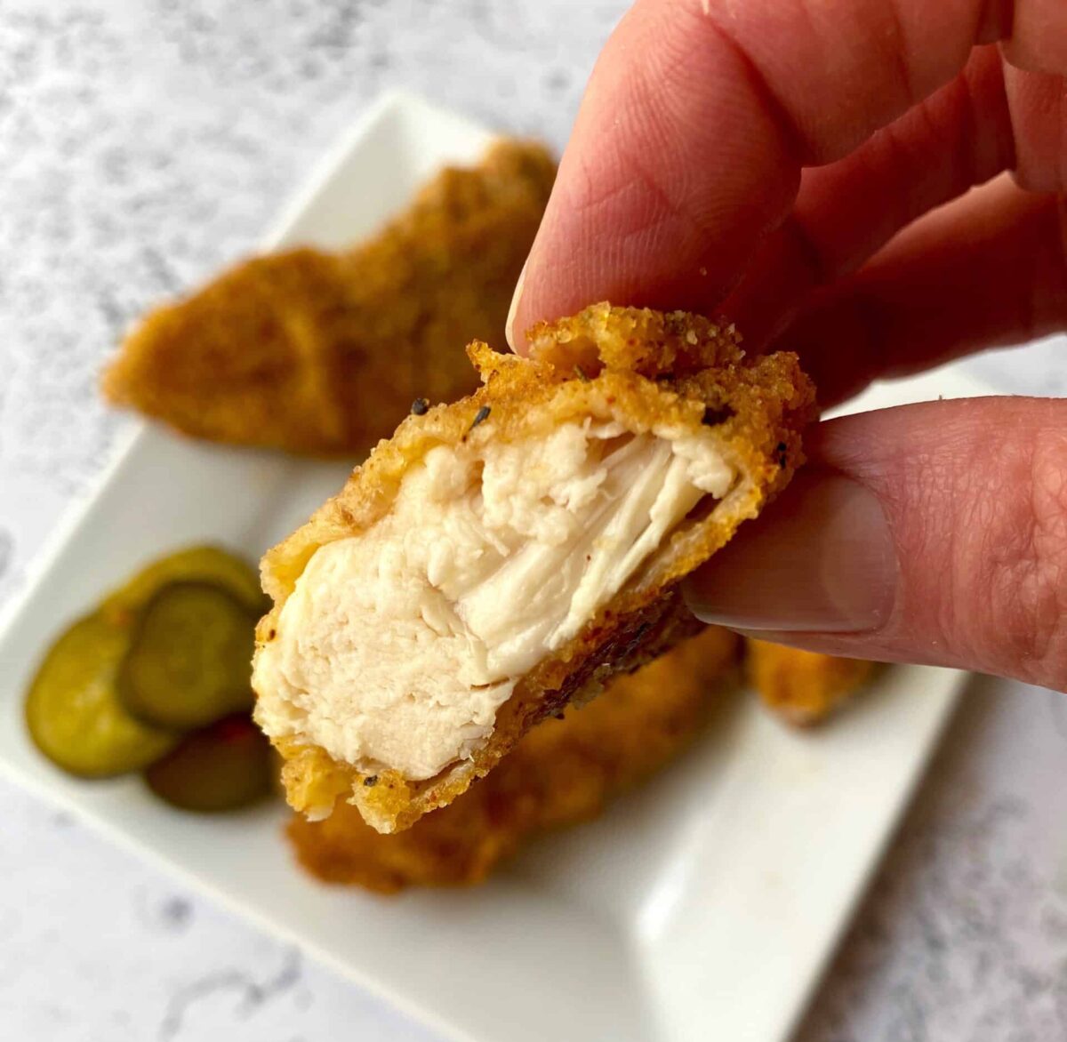
[[[365,784],[367,774],[300,734],[271,735],[287,762],[289,802],[299,811],[324,816],[348,796],[376,829],[393,832],[450,803],[531,726],[569,702],[592,698],[612,674],[635,669],[696,631],[679,581],[754,517],[801,461],[801,431],[814,416],[810,381],[795,355],[745,357],[732,326],[684,312],[598,304],[536,327],[530,341],[529,358],[472,344],[483,386],[455,404],[408,417],[337,496],[268,551],[262,581],[275,607],[258,628],[254,685],[260,723],[265,695],[272,692],[265,691],[258,663],[297,579],[319,547],[359,535],[384,517],[404,475],[433,447],[536,439],[568,421],[589,419],[618,422],[632,434],[654,428],[713,432],[737,480],[713,510],[679,525],[574,638],[519,678],[492,734],[469,758],[426,781],[383,770]],[[479,416],[484,421],[476,423]]]

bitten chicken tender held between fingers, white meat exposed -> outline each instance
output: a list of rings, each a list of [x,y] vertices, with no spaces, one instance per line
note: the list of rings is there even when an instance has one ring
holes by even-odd
[[[412,415],[262,561],[256,720],[293,807],[380,832],[697,628],[679,581],[790,480],[813,389],[731,327],[594,305]]]

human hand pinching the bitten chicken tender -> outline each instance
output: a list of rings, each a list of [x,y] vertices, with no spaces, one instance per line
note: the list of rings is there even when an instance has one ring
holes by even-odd
[[[1064,74],[1063,0],[639,0],[509,340],[595,300],[724,314],[748,350],[797,351],[826,406],[1060,330]],[[806,450],[689,583],[699,615],[1067,687],[1067,402],[885,410]]]

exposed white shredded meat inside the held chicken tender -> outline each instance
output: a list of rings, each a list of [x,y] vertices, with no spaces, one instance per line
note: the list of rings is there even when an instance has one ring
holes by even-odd
[[[711,434],[607,421],[431,449],[389,514],[312,557],[261,653],[261,722],[367,772],[433,776],[734,478]]]

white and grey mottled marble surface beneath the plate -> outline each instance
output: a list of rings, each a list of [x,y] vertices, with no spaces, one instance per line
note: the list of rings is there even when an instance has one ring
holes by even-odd
[[[108,459],[132,316],[251,247],[387,86],[562,145],[624,6],[3,0],[0,598]],[[972,366],[1055,394],[1064,352]],[[1067,1039],[1065,807],[1067,701],[975,684],[799,1042]],[[0,1037],[432,1038],[5,783],[0,879]]]

